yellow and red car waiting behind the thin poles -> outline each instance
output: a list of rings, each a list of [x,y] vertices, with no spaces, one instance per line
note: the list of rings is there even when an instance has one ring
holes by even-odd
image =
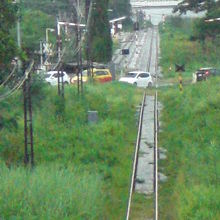
[[[112,74],[110,73],[109,69],[93,69],[92,73],[93,74],[93,79],[96,82],[101,82],[101,83],[105,83],[105,82],[111,82],[112,81]],[[80,78],[81,76],[79,76]],[[84,70],[82,72],[82,81],[83,82],[87,82],[88,81],[88,74],[87,74],[87,70]],[[76,83],[77,82],[77,76],[74,76],[71,79],[71,83]]]

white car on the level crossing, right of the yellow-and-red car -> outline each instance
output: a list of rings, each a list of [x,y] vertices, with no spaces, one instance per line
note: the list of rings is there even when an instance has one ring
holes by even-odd
[[[153,80],[150,73],[145,71],[132,71],[119,79],[120,82],[127,82],[138,87],[151,87]]]

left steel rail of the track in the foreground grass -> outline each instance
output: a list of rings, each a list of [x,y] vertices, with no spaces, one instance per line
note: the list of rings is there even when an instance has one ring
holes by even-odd
[[[135,187],[135,178],[136,178],[136,172],[137,172],[137,165],[138,165],[138,152],[140,148],[140,140],[141,140],[141,132],[142,132],[142,123],[143,123],[143,114],[144,114],[144,106],[146,101],[146,92],[144,92],[142,105],[141,105],[141,112],[139,116],[139,126],[138,126],[138,134],[137,134],[137,141],[135,146],[135,153],[134,153],[134,159],[133,159],[133,171],[132,171],[132,177],[131,177],[131,185],[130,185],[130,191],[129,191],[129,199],[127,204],[127,212],[126,212],[126,220],[129,220],[130,218],[130,211],[131,211],[131,199],[132,194]]]

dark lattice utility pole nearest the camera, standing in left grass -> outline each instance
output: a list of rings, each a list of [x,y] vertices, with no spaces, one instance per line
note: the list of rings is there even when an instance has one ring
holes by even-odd
[[[24,96],[24,164],[34,166],[34,144],[33,144],[33,123],[32,123],[32,102],[31,102],[31,72],[34,62],[32,61],[30,70],[25,71],[25,81],[23,84]],[[25,68],[24,68],[25,69]],[[30,151],[30,152],[29,152]]]

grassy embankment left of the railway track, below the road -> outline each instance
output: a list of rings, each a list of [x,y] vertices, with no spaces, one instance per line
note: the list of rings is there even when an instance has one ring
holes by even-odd
[[[22,96],[0,103],[1,219],[124,218],[142,92],[118,83],[86,86],[82,98],[65,92],[64,108],[56,88],[33,88],[32,171],[21,166]]]

